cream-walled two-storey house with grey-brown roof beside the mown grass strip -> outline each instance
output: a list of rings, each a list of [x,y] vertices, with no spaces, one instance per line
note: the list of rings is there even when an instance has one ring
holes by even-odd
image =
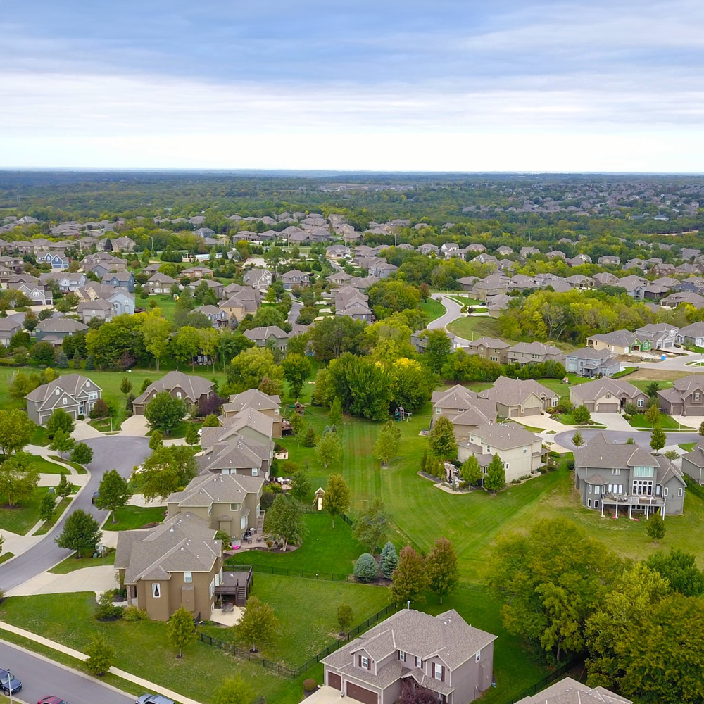
[[[472,430],[468,440],[457,444],[458,460],[465,462],[473,455],[484,474],[494,455],[498,455],[507,484],[537,472],[545,453],[539,436],[513,422],[481,425]]]

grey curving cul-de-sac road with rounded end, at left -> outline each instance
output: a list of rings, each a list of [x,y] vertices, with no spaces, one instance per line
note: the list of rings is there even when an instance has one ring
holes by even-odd
[[[111,435],[91,438],[84,442],[93,448],[93,461],[88,465],[91,477],[89,482],[79,491],[70,511],[82,508],[92,513],[102,524],[108,517],[108,512],[98,510],[92,505],[93,492],[98,490],[106,470],[114,468],[125,479],[130,477],[134,465],[141,464],[144,458],[149,455],[149,438]],[[71,551],[58,547],[54,542],[54,538],[63,530],[68,513],[69,511],[64,512],[61,520],[39,543],[27,552],[0,565],[0,586],[2,589],[7,591],[15,586],[20,586],[20,584],[27,582],[27,579],[36,577],[37,574],[54,567],[57,562],[68,558]],[[0,667],[2,667],[1,664]],[[22,678],[20,677],[20,679]]]

